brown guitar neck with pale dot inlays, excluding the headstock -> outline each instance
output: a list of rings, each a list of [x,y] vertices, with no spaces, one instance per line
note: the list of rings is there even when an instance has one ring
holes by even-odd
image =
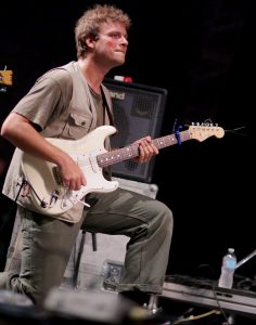
[[[189,130],[179,132],[180,141],[184,142],[191,139]],[[158,148],[164,148],[174,144],[177,144],[179,140],[176,134],[165,135],[158,139],[154,139],[153,144]],[[124,160],[132,159],[139,156],[139,145],[130,144],[119,150],[107,152],[97,156],[98,165],[103,168],[110,165],[114,165]]]

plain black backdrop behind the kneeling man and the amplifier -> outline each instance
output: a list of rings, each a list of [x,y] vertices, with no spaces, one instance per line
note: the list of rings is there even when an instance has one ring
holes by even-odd
[[[0,93],[1,122],[46,70],[76,60],[74,26],[93,1],[4,1],[1,8],[0,70],[13,70],[13,86]],[[105,3],[98,1],[98,3]],[[165,148],[153,183],[157,198],[174,211],[169,274],[219,276],[222,255],[238,260],[255,245],[256,4],[252,1],[110,1],[132,18],[129,51],[114,75],[168,90],[162,134],[174,121],[210,119],[226,130],[219,140]],[[234,131],[238,128],[241,130]],[[13,147],[0,141],[7,166]],[[1,176],[3,182],[4,172]],[[12,222],[1,197],[1,253]],[[254,277],[256,259],[238,274]]]

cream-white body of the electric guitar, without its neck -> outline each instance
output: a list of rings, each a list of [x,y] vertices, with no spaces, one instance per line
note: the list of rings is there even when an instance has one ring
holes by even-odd
[[[103,126],[94,129],[79,140],[47,140],[66,152],[80,166],[85,173],[87,185],[79,191],[67,191],[61,182],[56,166],[24,153],[22,170],[30,185],[29,197],[33,204],[43,214],[56,216],[71,209],[90,192],[112,192],[118,187],[118,182],[107,181],[102,174],[97,156],[105,153],[105,139],[114,134],[116,129]]]

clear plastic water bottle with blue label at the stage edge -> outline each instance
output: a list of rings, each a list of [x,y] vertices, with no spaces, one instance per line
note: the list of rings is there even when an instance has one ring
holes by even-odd
[[[229,248],[228,252],[223,256],[221,274],[219,277],[218,286],[231,289],[233,286],[233,275],[236,266],[236,256],[233,248]]]

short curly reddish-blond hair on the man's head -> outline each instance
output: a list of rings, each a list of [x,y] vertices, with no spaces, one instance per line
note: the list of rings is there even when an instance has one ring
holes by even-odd
[[[87,55],[88,48],[86,38],[98,37],[100,27],[103,23],[118,22],[124,24],[128,30],[131,25],[129,16],[121,9],[108,4],[95,4],[93,8],[84,12],[82,16],[77,21],[75,27],[75,40],[77,49],[77,57]]]

